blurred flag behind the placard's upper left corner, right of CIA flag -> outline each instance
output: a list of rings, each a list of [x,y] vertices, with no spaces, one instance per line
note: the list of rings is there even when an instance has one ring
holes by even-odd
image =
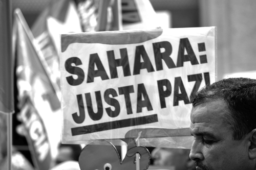
[[[70,0],[51,1],[34,22],[31,32],[39,45],[42,57],[51,71],[51,81],[60,88],[59,72],[59,34],[81,32],[80,21],[75,3]],[[58,93],[60,99],[60,93]]]

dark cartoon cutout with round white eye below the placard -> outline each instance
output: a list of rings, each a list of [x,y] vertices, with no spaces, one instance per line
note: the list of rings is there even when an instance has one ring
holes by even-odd
[[[104,141],[101,145],[89,144],[83,148],[79,157],[81,170],[131,170],[136,169],[136,153],[140,156],[140,169],[147,169],[150,165],[150,152],[145,147],[129,147],[123,160],[116,147]]]

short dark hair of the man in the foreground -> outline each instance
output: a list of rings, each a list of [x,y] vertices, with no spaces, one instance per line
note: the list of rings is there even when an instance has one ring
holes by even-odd
[[[256,80],[228,78],[206,85],[196,93],[193,107],[214,100],[226,102],[231,119],[224,121],[232,126],[234,140],[256,128]]]

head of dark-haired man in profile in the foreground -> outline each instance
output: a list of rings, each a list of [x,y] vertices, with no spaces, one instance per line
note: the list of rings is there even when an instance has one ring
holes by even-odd
[[[256,166],[256,80],[230,78],[207,85],[193,101],[190,158],[197,169]]]

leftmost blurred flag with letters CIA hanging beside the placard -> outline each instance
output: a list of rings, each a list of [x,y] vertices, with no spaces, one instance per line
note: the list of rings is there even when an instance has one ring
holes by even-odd
[[[57,150],[60,141],[60,102],[51,72],[19,9],[14,12],[14,23],[18,117],[26,131],[33,163],[39,170],[48,170],[52,150]]]

